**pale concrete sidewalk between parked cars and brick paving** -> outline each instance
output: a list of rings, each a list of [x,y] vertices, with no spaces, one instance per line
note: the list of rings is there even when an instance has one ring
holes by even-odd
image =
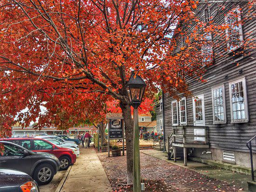
[[[56,192],[112,192],[108,177],[93,147],[80,149],[80,157],[67,170]]]

